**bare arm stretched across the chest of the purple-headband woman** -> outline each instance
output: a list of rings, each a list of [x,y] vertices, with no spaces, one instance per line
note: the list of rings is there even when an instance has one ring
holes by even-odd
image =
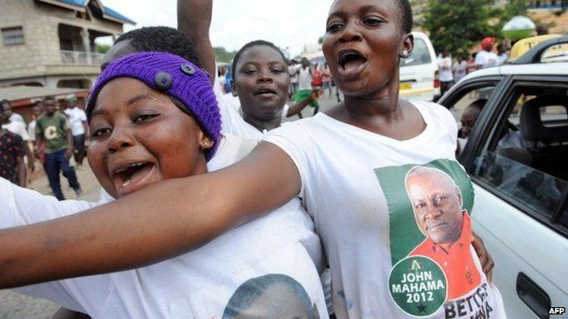
[[[224,170],[163,181],[85,213],[0,231],[0,288],[183,254],[287,203],[299,186],[289,156],[265,142]]]

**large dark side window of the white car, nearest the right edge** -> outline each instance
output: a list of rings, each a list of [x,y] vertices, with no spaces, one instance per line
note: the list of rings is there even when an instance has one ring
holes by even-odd
[[[524,211],[552,219],[568,186],[566,88],[519,87],[500,121],[482,143],[472,176]],[[568,226],[568,213],[560,216]]]

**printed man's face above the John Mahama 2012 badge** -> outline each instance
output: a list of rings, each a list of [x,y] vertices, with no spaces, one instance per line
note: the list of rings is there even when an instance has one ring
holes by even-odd
[[[462,194],[448,174],[417,166],[406,177],[406,191],[421,232],[436,244],[451,244],[462,234]]]

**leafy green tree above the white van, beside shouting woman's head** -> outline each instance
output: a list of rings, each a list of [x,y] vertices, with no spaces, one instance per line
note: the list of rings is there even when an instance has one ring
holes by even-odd
[[[499,14],[492,0],[429,0],[423,26],[436,52],[465,56],[483,37],[499,35]]]

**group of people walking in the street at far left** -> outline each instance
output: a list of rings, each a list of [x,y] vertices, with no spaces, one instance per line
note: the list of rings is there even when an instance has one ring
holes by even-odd
[[[85,111],[77,107],[76,102],[74,95],[61,100],[46,96],[35,102],[31,110],[32,121],[27,125],[22,115],[12,112],[9,101],[0,102],[3,138],[10,141],[2,144],[4,147],[0,156],[3,158],[3,169],[0,176],[25,187],[30,182],[29,175],[35,171],[37,161],[42,164],[58,200],[66,199],[61,190],[60,174],[66,177],[69,186],[80,196],[83,191],[69,159],[75,155],[76,164],[83,164],[88,129]],[[58,111],[60,107],[63,112]]]

